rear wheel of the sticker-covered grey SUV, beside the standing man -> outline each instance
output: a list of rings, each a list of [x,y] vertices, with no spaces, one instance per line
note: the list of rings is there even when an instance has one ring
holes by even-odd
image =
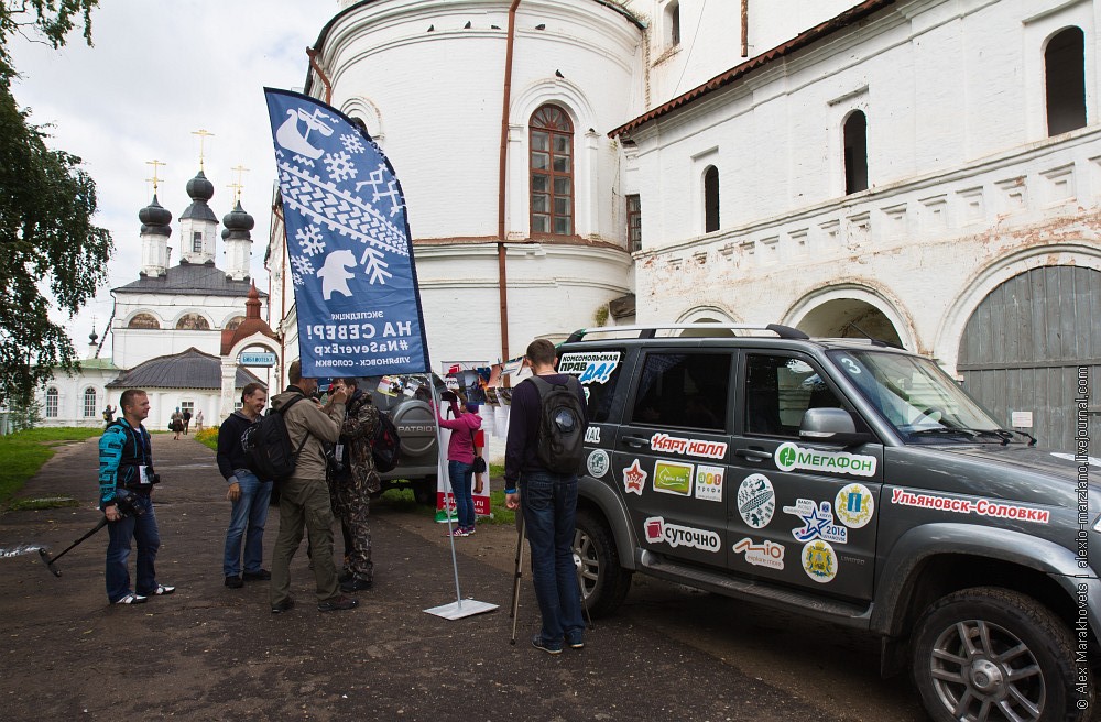
[[[608,525],[592,512],[577,513],[574,564],[581,599],[590,614],[609,614],[623,603],[631,589],[631,572],[620,566]]]

